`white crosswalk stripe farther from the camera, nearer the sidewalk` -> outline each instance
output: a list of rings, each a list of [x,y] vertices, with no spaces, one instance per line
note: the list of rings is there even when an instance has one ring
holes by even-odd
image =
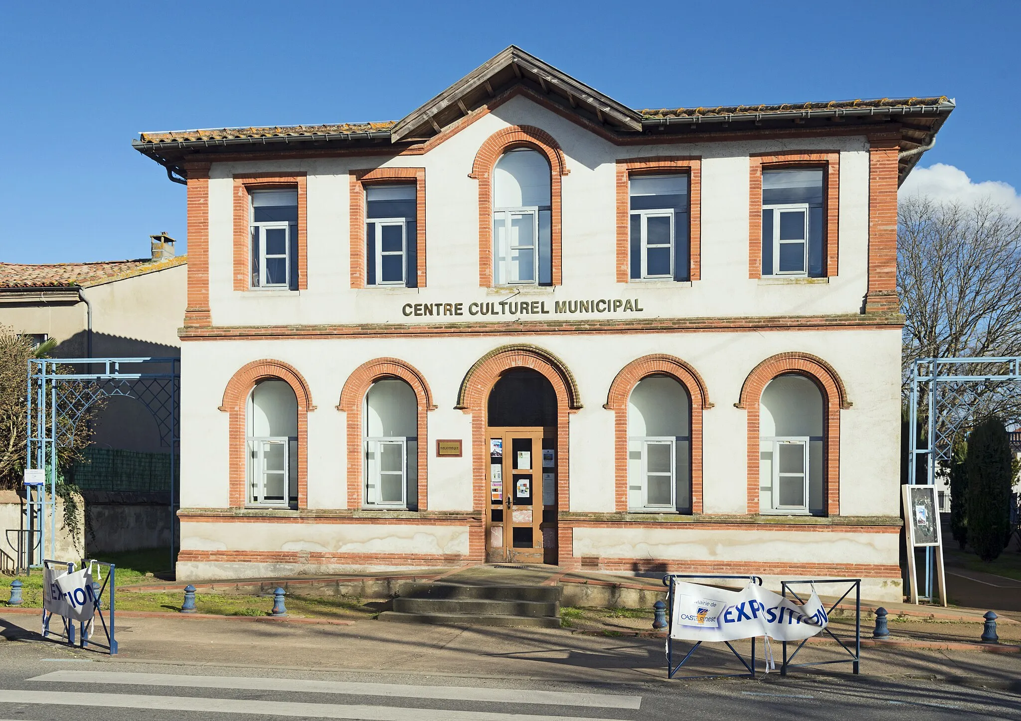
[[[115,683],[144,686],[190,686],[192,688],[235,688],[353,696],[388,696],[447,701],[483,701],[503,704],[544,704],[597,709],[638,709],[640,696],[615,693],[574,693],[524,688],[481,686],[417,686],[397,683],[323,681],[300,678],[255,678],[250,676],[194,676],[176,673],[133,673],[127,671],[53,671],[30,681],[66,683]]]

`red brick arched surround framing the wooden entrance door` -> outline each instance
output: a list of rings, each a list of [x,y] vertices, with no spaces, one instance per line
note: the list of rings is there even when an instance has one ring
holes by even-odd
[[[481,509],[483,513],[488,509],[489,441],[486,437],[486,416],[489,392],[500,374],[512,368],[531,368],[542,373],[556,393],[556,505],[558,509],[568,510],[571,499],[568,416],[581,408],[581,404],[575,395],[577,389],[572,391],[570,382],[565,380],[573,377],[567,366],[560,364],[553,354],[534,346],[507,346],[486,354],[472,366],[461,382],[457,407],[472,415],[472,508]],[[483,524],[473,529],[469,540],[473,549],[481,549],[483,554],[486,548],[484,533]],[[562,540],[563,537],[558,537],[558,543]],[[560,545],[557,548],[562,557],[570,557],[570,546]]]

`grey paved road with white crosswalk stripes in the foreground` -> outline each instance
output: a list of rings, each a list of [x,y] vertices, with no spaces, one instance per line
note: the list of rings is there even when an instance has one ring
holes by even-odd
[[[0,656],[2,720],[1021,719],[1021,696],[1006,691],[848,675],[584,683],[82,661],[22,642]]]

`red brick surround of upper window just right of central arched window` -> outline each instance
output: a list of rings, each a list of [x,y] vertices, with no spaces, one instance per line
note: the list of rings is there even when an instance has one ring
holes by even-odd
[[[665,155],[617,161],[617,282],[630,280],[628,179],[634,175],[678,171],[688,174],[691,279],[701,279],[701,156]]]

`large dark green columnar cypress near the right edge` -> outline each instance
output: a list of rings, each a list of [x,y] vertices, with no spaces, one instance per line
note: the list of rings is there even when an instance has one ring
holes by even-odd
[[[999,418],[986,418],[968,436],[968,542],[985,562],[1006,548],[1010,532],[1011,446]]]

